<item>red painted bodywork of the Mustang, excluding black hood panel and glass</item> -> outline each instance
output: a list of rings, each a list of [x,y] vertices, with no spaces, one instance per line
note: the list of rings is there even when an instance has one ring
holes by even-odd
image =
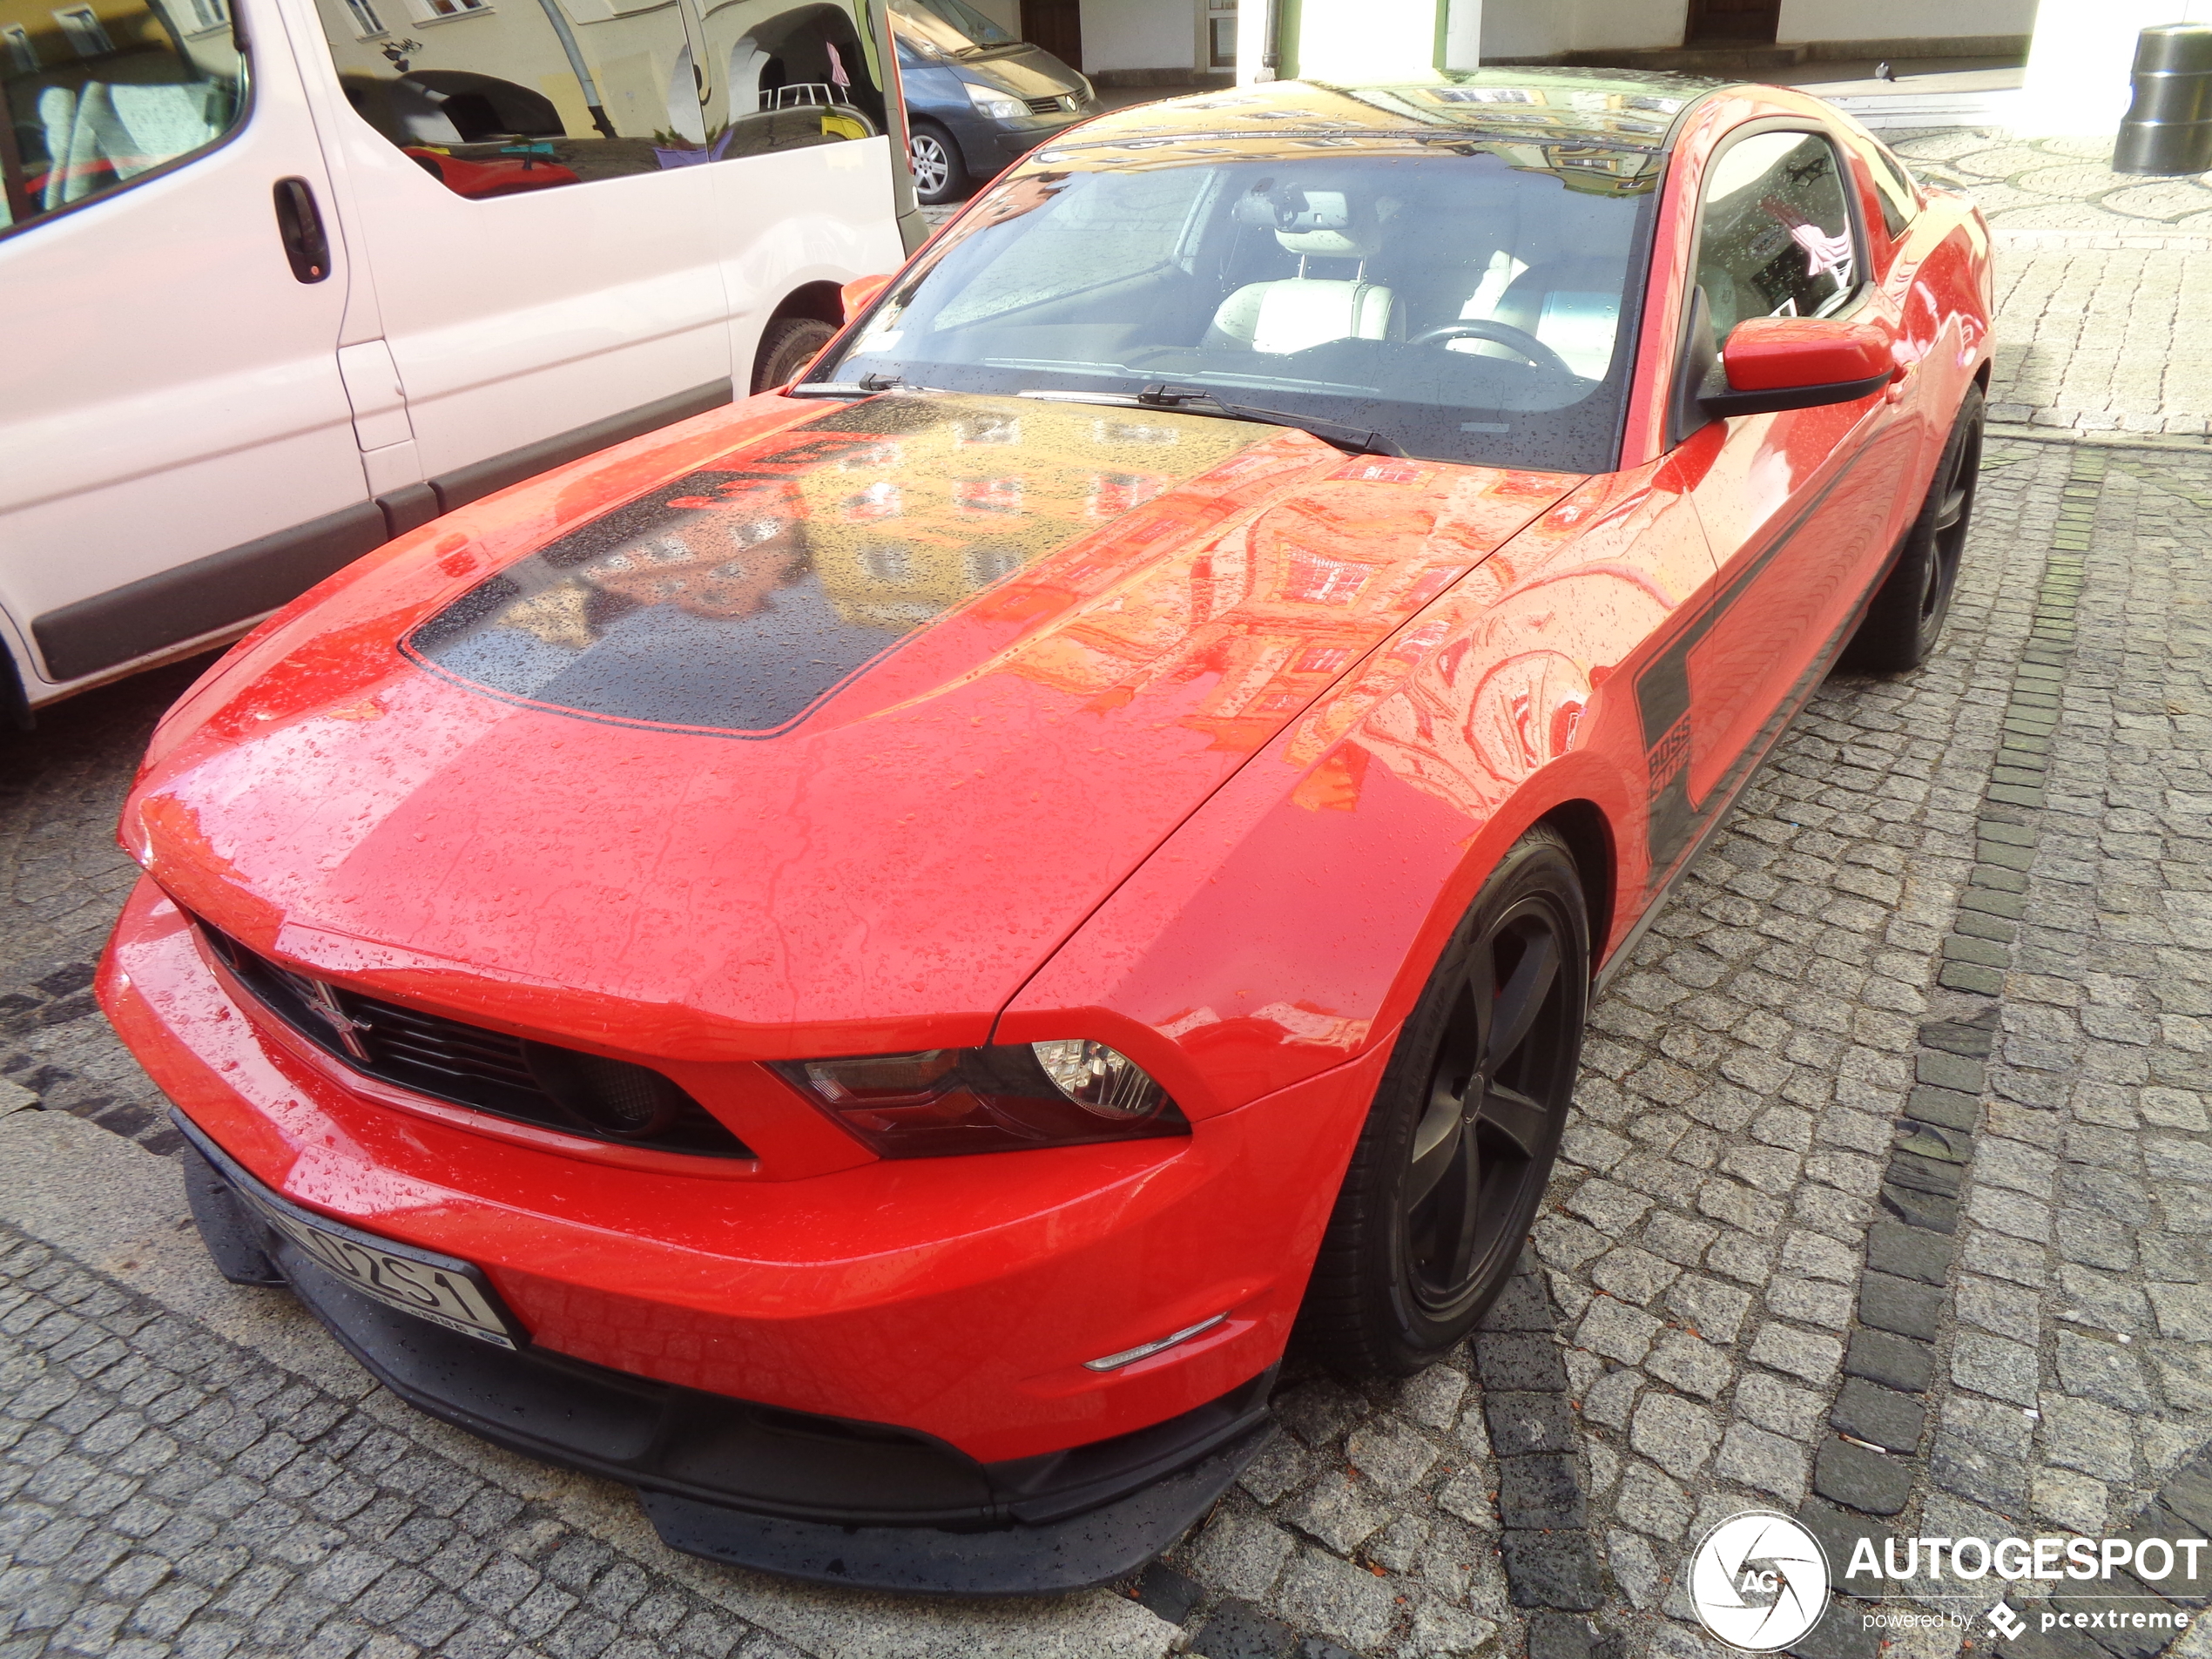
[[[1860,173],[1898,378],[1668,447],[1703,159],[1767,115],[1836,119],[1745,91],[1686,126],[1619,473],[1254,429],[1152,500],[1102,487],[1095,533],[763,741],[398,655],[487,573],[821,414],[763,396],[394,542],[164,721],[122,834],[177,900],[374,995],[657,1064],[757,1164],[378,1097],[232,1000],[150,885],[104,1004],[254,1175],[484,1263],[549,1347],[980,1458],[1225,1391],[1281,1354],[1389,1037],[1491,863],[1595,810],[1619,947],[1809,695],[1989,361],[1973,210],[1929,192],[1891,246]],[[1668,672],[1688,714],[1648,730]],[[1194,1133],[883,1164],[759,1064],[993,1035],[1113,1042]]]

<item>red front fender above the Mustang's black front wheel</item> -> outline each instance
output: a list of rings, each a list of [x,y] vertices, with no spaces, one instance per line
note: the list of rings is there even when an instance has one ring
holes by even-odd
[[[1113,1042],[1192,1117],[1340,1066],[1405,1020],[1498,858],[1566,803],[1619,849],[1619,940],[1650,794],[1619,670],[1712,573],[1674,465],[1590,480],[1416,615],[1091,914],[993,1042]]]

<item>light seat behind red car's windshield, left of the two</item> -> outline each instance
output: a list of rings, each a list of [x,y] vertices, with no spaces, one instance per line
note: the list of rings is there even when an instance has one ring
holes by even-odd
[[[1371,204],[1347,201],[1343,190],[1279,190],[1237,201],[1239,223],[1274,226],[1274,239],[1298,257],[1298,274],[1245,283],[1214,312],[1208,347],[1248,352],[1303,352],[1329,341],[1380,341],[1391,332],[1391,290],[1367,281],[1367,261],[1380,250],[1380,219]],[[1316,261],[1349,263],[1349,276],[1307,276]]]

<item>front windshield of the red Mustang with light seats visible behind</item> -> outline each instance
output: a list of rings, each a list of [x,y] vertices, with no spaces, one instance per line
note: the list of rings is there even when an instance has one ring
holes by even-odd
[[[1553,170],[1564,146],[1336,146],[1360,148],[1093,173],[1044,157],[810,378],[1192,389],[1429,460],[1610,471],[1657,157],[1575,146]]]

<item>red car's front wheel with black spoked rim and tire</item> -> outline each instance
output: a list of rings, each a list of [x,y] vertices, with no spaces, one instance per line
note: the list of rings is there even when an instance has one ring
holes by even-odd
[[[1407,1376],[1482,1318],[1559,1150],[1588,995],[1582,876],[1537,825],[1491,872],[1398,1033],[1298,1312],[1307,1354]]]

